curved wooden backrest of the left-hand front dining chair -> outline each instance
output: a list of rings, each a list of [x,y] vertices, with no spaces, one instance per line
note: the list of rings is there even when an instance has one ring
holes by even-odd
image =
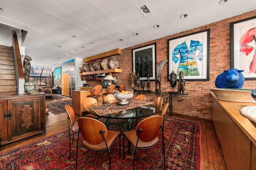
[[[104,141],[104,137],[100,133],[101,130],[105,131],[105,137],[108,135],[106,126],[102,122],[90,117],[81,117],[78,119],[78,126],[84,140],[91,145],[98,145]]]

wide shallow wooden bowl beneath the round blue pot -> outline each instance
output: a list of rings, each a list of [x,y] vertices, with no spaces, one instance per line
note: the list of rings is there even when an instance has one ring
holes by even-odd
[[[212,88],[210,89],[218,100],[229,102],[253,102],[250,89]]]

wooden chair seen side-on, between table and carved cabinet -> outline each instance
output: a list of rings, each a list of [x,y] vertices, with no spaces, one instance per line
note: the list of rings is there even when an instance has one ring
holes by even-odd
[[[75,112],[74,109],[69,106],[65,105],[65,109],[68,113],[68,134],[69,134],[69,159],[70,159],[70,152],[71,152],[71,135],[73,135],[73,140],[74,142],[74,133],[78,132],[78,123],[74,123],[74,118],[75,118]]]

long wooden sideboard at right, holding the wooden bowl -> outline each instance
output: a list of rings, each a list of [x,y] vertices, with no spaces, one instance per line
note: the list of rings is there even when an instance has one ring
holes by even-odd
[[[212,122],[228,170],[256,170],[256,127],[240,114],[240,103],[218,100],[212,94]]]

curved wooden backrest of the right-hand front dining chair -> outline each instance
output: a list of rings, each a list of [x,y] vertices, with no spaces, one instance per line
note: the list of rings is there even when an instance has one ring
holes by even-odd
[[[143,142],[154,140],[161,130],[163,123],[162,116],[151,116],[142,120],[136,127],[136,135],[139,136],[139,129],[142,129],[139,139]]]

